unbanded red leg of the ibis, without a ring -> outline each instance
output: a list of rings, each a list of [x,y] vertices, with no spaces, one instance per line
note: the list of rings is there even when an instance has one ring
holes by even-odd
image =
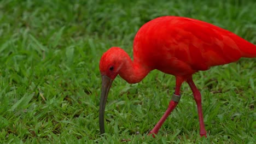
[[[199,90],[197,89],[197,87],[195,86],[195,83],[192,80],[192,77],[190,77],[187,80],[193,95],[194,95],[194,99],[196,101],[196,105],[197,105],[197,111],[198,111],[198,115],[199,115],[199,124],[200,124],[200,135],[201,136],[206,136],[206,130],[205,130],[205,124],[203,123],[203,114],[202,114],[202,104],[201,104],[201,93],[199,92]]]

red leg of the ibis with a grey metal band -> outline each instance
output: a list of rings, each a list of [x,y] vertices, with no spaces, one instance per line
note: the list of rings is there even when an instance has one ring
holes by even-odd
[[[175,92],[173,94],[172,100],[169,103],[169,106],[167,110],[165,111],[164,115],[161,117],[160,121],[155,125],[155,127],[150,131],[150,134],[158,134],[159,129],[161,128],[162,124],[165,122],[166,118],[170,115],[172,110],[177,106],[179,98],[181,98],[180,91],[181,91],[181,85],[184,79],[181,77],[176,77],[176,87]]]

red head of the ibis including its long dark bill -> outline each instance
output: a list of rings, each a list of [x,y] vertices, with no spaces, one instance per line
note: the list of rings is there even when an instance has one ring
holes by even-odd
[[[119,74],[119,70],[123,65],[125,51],[119,47],[111,47],[105,52],[100,60],[100,71],[102,77],[101,87],[101,101],[100,101],[100,112],[99,122],[101,134],[105,133],[104,130],[104,111],[108,97],[109,89],[112,85],[113,80]]]

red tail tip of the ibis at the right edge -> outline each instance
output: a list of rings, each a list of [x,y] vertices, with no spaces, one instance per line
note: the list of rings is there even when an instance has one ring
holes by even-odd
[[[240,46],[242,57],[253,58],[256,57],[256,45],[246,41]]]

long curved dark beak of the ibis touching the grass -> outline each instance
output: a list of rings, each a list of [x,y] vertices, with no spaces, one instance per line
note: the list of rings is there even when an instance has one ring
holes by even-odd
[[[112,85],[113,80],[111,80],[108,76],[102,75],[102,86],[101,86],[101,101],[100,101],[100,113],[98,115],[99,122],[100,122],[100,131],[101,134],[105,133],[104,128],[104,112],[105,112],[105,105],[108,98],[108,92]]]

